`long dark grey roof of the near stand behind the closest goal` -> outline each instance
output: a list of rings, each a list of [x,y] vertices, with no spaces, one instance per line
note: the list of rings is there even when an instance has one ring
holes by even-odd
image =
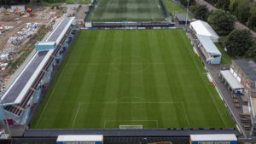
[[[225,130],[198,130],[198,129],[142,129],[142,130],[119,130],[119,129],[28,129],[24,136],[27,137],[51,137],[58,135],[104,135],[104,137],[132,137],[132,136],[188,136],[189,135],[205,135],[205,134],[235,134],[234,129]]]

